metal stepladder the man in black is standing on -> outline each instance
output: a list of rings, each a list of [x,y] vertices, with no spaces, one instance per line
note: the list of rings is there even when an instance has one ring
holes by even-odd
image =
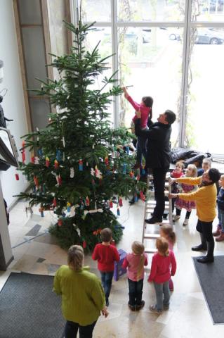
[[[156,205],[156,201],[154,201],[154,191],[152,184],[153,177],[152,175],[148,175],[147,177],[147,189],[151,189],[149,198],[145,201],[145,213],[144,213],[144,223],[143,223],[143,237],[142,242],[145,245],[146,253],[154,253],[157,251],[155,248],[155,241],[159,237],[159,227],[164,224],[173,225],[173,217],[172,217],[172,202],[171,199],[168,199],[169,194],[171,193],[171,177],[170,173],[166,174],[166,182],[165,182],[165,210],[164,210],[164,218],[161,223],[155,224],[147,224],[145,223],[145,219],[151,218],[152,213],[154,211],[154,207]]]

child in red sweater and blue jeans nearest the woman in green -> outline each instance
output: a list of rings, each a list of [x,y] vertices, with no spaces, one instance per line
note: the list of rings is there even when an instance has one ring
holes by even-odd
[[[100,233],[102,243],[96,244],[92,258],[98,261],[98,270],[105,292],[106,306],[109,306],[110,289],[114,275],[114,262],[119,262],[120,256],[116,246],[112,243],[112,231],[105,227]]]

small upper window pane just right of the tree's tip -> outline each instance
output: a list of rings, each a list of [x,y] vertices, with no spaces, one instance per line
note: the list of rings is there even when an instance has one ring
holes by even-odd
[[[79,1],[80,2],[80,1]],[[111,20],[110,0],[82,0],[81,18],[84,22],[108,22]]]

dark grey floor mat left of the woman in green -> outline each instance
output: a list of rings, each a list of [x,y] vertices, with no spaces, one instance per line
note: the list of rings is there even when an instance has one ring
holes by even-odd
[[[62,338],[65,320],[53,277],[11,273],[0,292],[0,338]]]

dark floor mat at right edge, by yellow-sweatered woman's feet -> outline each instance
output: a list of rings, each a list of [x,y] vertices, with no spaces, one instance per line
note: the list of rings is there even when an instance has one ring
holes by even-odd
[[[213,324],[224,324],[224,256],[215,256],[214,263],[202,264],[192,257]]]

